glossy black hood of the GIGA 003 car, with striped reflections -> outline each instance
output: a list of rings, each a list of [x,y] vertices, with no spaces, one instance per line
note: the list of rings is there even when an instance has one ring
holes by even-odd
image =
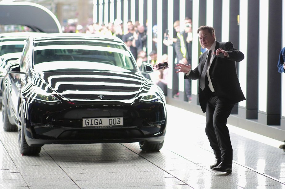
[[[42,72],[34,76],[43,82],[33,79],[34,85],[71,101],[128,100],[153,84],[140,72]]]

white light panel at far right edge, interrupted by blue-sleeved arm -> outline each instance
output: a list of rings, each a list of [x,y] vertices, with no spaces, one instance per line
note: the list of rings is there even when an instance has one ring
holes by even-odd
[[[285,0],[282,1],[282,33],[285,33]],[[282,47],[285,47],[285,36],[282,35]],[[281,74],[281,115],[285,117],[285,73]]]

